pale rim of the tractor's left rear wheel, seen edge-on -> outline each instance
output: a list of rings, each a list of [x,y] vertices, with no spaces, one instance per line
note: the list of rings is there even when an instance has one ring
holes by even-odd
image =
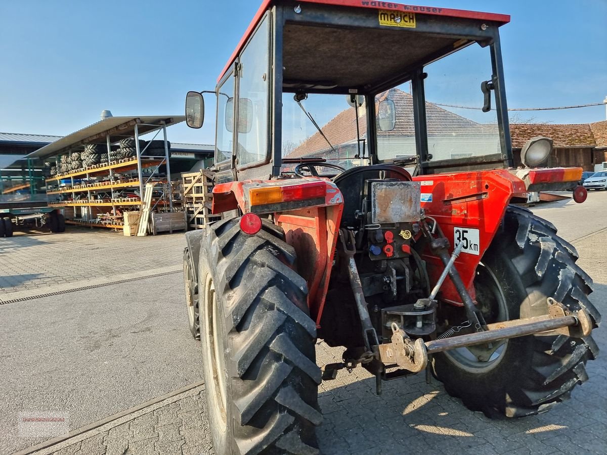
[[[211,370],[212,385],[211,394],[219,409],[219,417],[222,423],[222,431],[227,427],[226,419],[226,379],[225,362],[223,360],[223,337],[219,325],[222,323],[217,312],[217,300],[215,297],[215,285],[212,278],[207,275],[205,281],[205,343],[206,361]]]

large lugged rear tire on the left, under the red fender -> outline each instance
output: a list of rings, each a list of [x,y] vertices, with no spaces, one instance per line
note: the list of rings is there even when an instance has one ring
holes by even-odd
[[[276,225],[208,227],[198,263],[200,339],[215,453],[317,453],[316,324]]]

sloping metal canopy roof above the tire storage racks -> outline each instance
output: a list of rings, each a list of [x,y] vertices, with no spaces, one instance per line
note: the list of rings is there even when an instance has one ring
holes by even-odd
[[[77,149],[85,144],[107,144],[108,136],[110,143],[118,142],[124,138],[132,138],[135,135],[135,126],[137,126],[138,134],[143,135],[161,129],[163,125],[171,126],[185,120],[186,118],[183,115],[109,117],[64,136],[30,153],[25,158],[44,160],[70,152],[70,150]]]

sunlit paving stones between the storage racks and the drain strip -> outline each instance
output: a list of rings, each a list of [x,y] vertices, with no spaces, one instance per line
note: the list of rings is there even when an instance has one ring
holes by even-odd
[[[0,295],[180,265],[184,244],[183,233],[124,237],[80,227],[0,238]]]

